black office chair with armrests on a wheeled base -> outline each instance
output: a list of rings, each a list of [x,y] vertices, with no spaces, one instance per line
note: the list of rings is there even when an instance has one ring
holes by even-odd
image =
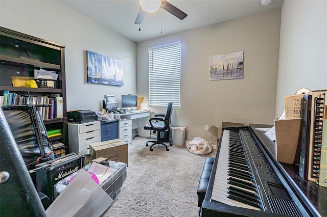
[[[167,107],[167,113],[165,114],[157,114],[154,116],[154,118],[150,118],[147,125],[144,126],[144,129],[153,130],[153,133],[157,132],[157,141],[148,141],[147,146],[149,146],[148,143],[153,143],[150,147],[150,151],[153,151],[152,147],[154,145],[164,145],[166,147],[166,150],[169,151],[169,148],[165,144],[166,142],[169,142],[169,144],[172,146],[173,144],[169,141],[169,125],[170,125],[170,118],[173,112],[173,103],[169,102]],[[162,117],[162,118],[159,118]]]

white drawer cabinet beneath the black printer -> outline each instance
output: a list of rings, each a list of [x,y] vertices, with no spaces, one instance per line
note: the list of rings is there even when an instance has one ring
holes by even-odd
[[[100,122],[68,123],[68,141],[69,153],[85,151],[89,154],[89,144],[100,142]]]

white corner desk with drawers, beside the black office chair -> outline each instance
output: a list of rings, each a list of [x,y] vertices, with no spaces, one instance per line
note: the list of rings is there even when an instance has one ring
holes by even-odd
[[[116,114],[116,116],[120,118],[118,128],[121,140],[131,144],[135,135],[150,137],[150,130],[143,129],[144,125],[149,121],[150,112],[126,112],[125,114]]]

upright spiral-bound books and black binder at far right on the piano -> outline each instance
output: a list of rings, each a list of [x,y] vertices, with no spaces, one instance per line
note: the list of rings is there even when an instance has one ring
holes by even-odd
[[[327,186],[326,94],[322,90],[301,95],[302,108],[298,111],[301,117],[299,175],[322,186]]]

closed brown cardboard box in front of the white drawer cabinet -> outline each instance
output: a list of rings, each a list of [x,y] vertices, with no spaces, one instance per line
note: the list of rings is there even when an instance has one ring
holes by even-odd
[[[89,145],[93,159],[105,157],[116,162],[125,162],[128,165],[128,144],[120,139],[108,140]]]

